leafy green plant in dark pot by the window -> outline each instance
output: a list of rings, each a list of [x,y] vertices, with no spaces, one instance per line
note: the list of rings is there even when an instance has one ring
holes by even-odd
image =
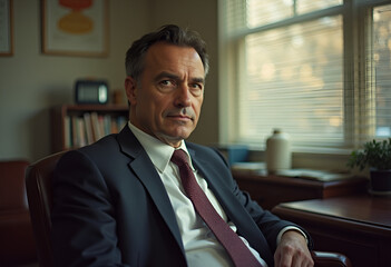
[[[363,149],[352,151],[348,166],[360,170],[370,167],[370,192],[391,196],[391,138],[365,142]]]

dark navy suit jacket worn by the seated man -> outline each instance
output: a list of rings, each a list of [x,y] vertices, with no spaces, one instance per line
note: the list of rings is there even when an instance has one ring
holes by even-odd
[[[237,187],[214,149],[186,142],[194,167],[268,266],[276,236],[293,225],[263,210]],[[186,266],[176,217],[148,155],[126,126],[67,152],[53,178],[56,266]]]

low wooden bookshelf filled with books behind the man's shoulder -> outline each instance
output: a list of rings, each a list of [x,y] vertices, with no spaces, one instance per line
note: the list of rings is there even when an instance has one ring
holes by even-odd
[[[128,120],[126,105],[61,105],[52,107],[51,150],[79,148],[118,132]]]

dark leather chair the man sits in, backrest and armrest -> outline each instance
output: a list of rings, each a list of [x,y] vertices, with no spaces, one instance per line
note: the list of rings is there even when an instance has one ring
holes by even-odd
[[[31,221],[37,236],[38,258],[41,267],[52,266],[50,245],[51,184],[57,161],[63,152],[43,158],[29,166],[26,175]],[[336,253],[313,251],[316,267],[351,267],[349,258]]]

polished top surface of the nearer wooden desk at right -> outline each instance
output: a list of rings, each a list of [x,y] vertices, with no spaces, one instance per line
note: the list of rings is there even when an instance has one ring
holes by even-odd
[[[281,207],[390,228],[391,230],[391,197],[358,195],[286,202],[281,204]]]

